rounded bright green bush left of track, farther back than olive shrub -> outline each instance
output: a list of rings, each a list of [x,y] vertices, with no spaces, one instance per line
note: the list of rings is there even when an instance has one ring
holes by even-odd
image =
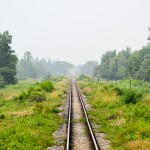
[[[39,86],[46,92],[51,92],[54,90],[54,86],[50,81],[42,81]]]

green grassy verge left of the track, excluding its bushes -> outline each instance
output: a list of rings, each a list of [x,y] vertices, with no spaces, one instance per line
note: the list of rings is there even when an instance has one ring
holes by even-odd
[[[35,82],[21,82],[0,91],[1,150],[41,150],[53,144],[52,134],[62,122],[58,107],[63,103],[67,81],[62,79],[53,84],[55,90],[46,92],[42,102],[13,98],[37,86]]]

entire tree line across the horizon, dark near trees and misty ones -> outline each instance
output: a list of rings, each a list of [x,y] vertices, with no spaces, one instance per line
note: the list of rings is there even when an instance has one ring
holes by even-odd
[[[12,36],[8,31],[0,33],[0,88],[17,83],[17,79],[67,75],[71,68],[78,70],[78,74],[93,75],[97,79],[121,80],[130,77],[150,81],[150,44],[135,52],[131,52],[129,47],[119,53],[116,50],[107,51],[102,55],[100,65],[96,61],[88,61],[75,68],[66,61],[34,59],[29,51],[19,60],[11,43]]]

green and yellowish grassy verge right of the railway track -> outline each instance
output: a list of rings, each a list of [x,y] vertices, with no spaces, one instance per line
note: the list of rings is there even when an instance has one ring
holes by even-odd
[[[143,96],[132,103],[137,97],[128,96],[130,101],[122,100],[128,98],[125,97],[127,86],[122,86],[128,85],[127,81],[115,85],[82,79],[79,83],[92,106],[88,112],[90,118],[99,125],[100,132],[106,133],[111,141],[111,150],[150,149],[149,84],[143,83],[143,88],[137,87],[137,84],[133,87],[136,90],[143,89]],[[118,89],[123,93],[118,93]]]

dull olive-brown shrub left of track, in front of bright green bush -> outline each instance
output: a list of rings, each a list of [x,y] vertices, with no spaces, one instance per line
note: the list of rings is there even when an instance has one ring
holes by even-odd
[[[46,100],[45,93],[34,91],[30,94],[30,100],[36,101],[36,102],[42,102],[42,101]]]

